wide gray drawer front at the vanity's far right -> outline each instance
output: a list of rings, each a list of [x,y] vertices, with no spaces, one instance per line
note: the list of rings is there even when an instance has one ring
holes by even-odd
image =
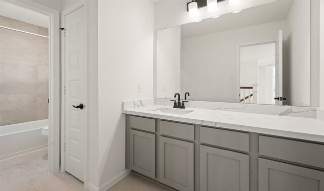
[[[324,168],[324,145],[259,135],[259,154]]]

